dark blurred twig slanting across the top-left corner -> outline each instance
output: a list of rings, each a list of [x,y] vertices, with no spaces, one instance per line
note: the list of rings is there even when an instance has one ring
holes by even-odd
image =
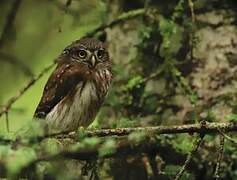
[[[6,23],[3,27],[3,31],[2,31],[2,34],[0,37],[0,48],[2,48],[4,41],[6,40],[6,37],[9,33],[9,30],[11,30],[11,28],[12,28],[12,25],[14,23],[14,20],[15,20],[17,11],[20,7],[20,4],[21,4],[21,0],[15,0],[12,3],[11,10],[10,10],[9,14],[7,15]]]

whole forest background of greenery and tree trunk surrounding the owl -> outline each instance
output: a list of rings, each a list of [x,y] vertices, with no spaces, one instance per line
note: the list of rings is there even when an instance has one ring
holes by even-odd
[[[236,179],[236,13],[235,0],[1,0],[0,176]],[[52,64],[83,36],[108,45],[109,95],[89,130],[43,136],[32,116]]]

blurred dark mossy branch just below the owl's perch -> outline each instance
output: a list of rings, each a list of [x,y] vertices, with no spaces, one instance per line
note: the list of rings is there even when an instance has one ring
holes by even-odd
[[[94,147],[84,147],[77,150],[64,150],[60,151],[54,155],[41,156],[30,163],[28,163],[22,172],[33,167],[35,164],[42,161],[54,161],[59,159],[76,159],[76,160],[93,160],[100,156],[100,148],[103,147],[103,143],[96,145]],[[157,153],[159,151],[167,151],[164,145],[158,143],[154,138],[146,138],[140,142],[129,141],[127,138],[117,140],[113,151],[109,154],[100,156],[100,158],[111,158],[111,157],[127,157],[129,155],[137,155],[141,153]]]

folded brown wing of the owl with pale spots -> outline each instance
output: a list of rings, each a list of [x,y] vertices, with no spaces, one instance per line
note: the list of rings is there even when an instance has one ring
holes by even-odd
[[[82,69],[69,64],[58,65],[44,87],[43,96],[34,117],[45,118],[75,88],[78,82],[83,81],[82,72]]]

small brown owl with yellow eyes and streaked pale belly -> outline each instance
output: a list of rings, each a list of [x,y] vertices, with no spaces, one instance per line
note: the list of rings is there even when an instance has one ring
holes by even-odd
[[[82,38],[57,59],[34,117],[51,129],[73,131],[89,126],[99,111],[112,80],[109,53],[99,40]]]

